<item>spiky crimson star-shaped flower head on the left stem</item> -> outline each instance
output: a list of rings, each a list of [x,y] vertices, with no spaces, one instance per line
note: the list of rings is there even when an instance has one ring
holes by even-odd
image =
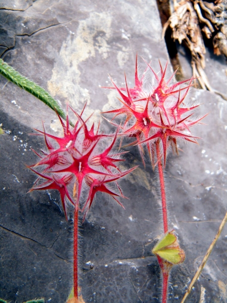
[[[59,117],[63,137],[48,134],[45,129],[38,131],[41,134],[37,135],[44,136],[47,151],[42,151],[40,155],[35,152],[40,160],[30,169],[38,175],[38,179],[31,190],[59,190],[66,218],[69,205],[76,208],[82,205],[85,217],[98,191],[109,194],[123,206],[119,198],[124,195],[117,181],[134,168],[122,172],[116,165],[125,154],[113,153],[118,130],[115,136],[99,133],[99,125],[96,132],[94,124],[88,130],[82,114],[73,112],[78,118],[74,128],[69,124],[68,115],[66,124]]]

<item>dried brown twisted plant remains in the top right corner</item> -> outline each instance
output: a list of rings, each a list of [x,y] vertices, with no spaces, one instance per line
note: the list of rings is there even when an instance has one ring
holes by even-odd
[[[205,53],[202,31],[212,39],[214,54],[227,57],[227,0],[205,2],[202,0],[174,0],[174,13],[163,26],[163,35],[168,27],[172,37],[189,48],[192,55],[193,76],[203,89],[212,91],[204,72]]]

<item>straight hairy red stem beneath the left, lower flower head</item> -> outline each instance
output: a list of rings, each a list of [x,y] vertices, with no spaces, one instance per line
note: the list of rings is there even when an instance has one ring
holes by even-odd
[[[78,299],[78,206],[74,210],[73,259],[74,297]]]

